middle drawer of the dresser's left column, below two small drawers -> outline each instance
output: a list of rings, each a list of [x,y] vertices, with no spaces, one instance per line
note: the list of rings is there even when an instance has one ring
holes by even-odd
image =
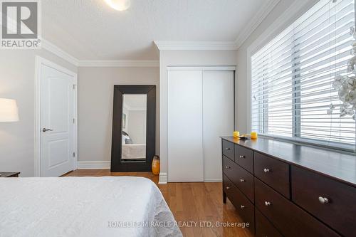
[[[250,199],[253,200],[253,175],[223,156],[223,172]]]

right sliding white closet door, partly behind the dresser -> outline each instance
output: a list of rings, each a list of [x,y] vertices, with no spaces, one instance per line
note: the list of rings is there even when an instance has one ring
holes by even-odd
[[[221,181],[221,139],[234,131],[234,71],[204,71],[204,181]]]

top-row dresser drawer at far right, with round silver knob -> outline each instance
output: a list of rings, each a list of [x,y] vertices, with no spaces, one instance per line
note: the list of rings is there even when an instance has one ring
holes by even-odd
[[[356,189],[352,186],[292,166],[292,200],[343,236],[355,236]]]

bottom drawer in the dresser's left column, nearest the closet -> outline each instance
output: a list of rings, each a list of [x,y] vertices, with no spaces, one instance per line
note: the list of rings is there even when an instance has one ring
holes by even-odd
[[[232,183],[232,181],[223,175],[223,188],[226,193],[226,196],[229,198],[232,204],[236,207],[239,216],[246,223],[249,223],[248,229],[251,233],[255,231],[255,207],[251,204],[251,201],[248,201],[246,196],[239,191],[239,189]]]

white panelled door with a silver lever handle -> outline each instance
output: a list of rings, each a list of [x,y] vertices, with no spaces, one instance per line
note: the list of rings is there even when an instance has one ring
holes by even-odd
[[[75,167],[76,78],[41,64],[41,177]]]

